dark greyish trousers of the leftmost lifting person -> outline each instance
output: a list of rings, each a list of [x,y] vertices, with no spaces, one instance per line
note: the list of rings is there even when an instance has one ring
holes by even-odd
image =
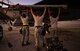
[[[29,27],[23,26],[22,27],[22,43],[26,44],[29,41]]]

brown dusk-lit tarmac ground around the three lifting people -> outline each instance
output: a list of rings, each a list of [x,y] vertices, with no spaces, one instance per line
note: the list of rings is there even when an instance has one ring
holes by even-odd
[[[80,21],[64,21],[58,22],[58,36],[63,45],[69,51],[80,51]],[[66,24],[65,24],[66,23]],[[34,27],[30,27],[30,45],[22,46],[21,37],[19,30],[21,27],[13,27],[12,31],[8,31],[8,25],[3,24],[4,37],[0,42],[0,51],[36,51],[35,39],[34,39]],[[13,47],[8,47],[10,42]],[[46,51],[40,43],[40,51]]]

